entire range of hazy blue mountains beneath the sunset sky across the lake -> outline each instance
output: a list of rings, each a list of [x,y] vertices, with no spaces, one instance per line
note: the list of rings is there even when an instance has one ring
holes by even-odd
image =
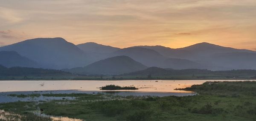
[[[80,74],[120,74],[152,66],[170,69],[256,69],[255,51],[211,43],[178,49],[164,46],[121,49],[92,42],[74,45],[60,37],[35,38],[0,47],[0,58],[0,64],[7,67],[64,69]]]

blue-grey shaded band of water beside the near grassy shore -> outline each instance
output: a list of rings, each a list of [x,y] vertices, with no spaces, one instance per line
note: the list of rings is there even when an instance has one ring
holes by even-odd
[[[84,94],[97,94],[102,93],[106,95],[116,96],[188,96],[195,95],[195,92],[189,93],[176,93],[176,92],[134,92],[134,91],[82,91],[82,90],[52,90],[52,91],[22,91],[22,92],[0,92],[0,103],[17,102],[17,101],[52,101],[52,100],[74,100],[76,97],[47,97],[42,94],[71,94],[71,93],[84,93]],[[30,95],[28,97],[17,97],[10,95]],[[41,94],[38,97],[32,97],[32,94]]]

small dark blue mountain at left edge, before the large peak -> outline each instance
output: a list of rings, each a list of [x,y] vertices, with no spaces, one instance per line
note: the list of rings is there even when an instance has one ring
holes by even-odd
[[[6,67],[39,67],[35,61],[20,56],[15,51],[0,51],[0,58],[0,65]]]

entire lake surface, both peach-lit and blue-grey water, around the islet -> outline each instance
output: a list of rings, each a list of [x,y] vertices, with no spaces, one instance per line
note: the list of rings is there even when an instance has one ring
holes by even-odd
[[[8,96],[9,94],[33,94],[33,93],[107,93],[121,96],[186,96],[195,95],[195,92],[174,90],[185,88],[193,84],[203,84],[209,80],[125,80],[125,81],[0,81],[0,103],[14,101],[41,101],[59,100],[62,97],[43,97],[38,98],[17,98]],[[212,80],[214,81],[214,80]],[[236,81],[236,80],[218,80]],[[241,81],[241,80],[240,80]],[[243,81],[243,80],[242,80]],[[104,91],[99,87],[114,84],[119,86],[135,86],[138,90],[118,90]],[[66,97],[67,98],[67,97]]]

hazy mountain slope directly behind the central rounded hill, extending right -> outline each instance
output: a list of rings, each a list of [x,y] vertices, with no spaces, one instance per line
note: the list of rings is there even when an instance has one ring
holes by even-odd
[[[167,58],[158,52],[143,47],[130,47],[120,49],[113,55],[125,55],[143,63],[145,66],[156,66],[161,68],[190,69],[202,68],[200,64],[186,59]]]

